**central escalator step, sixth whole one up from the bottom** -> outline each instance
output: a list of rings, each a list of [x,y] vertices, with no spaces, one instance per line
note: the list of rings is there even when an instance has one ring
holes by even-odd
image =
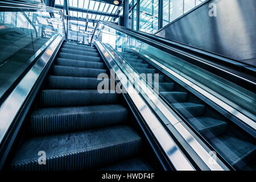
[[[78,61],[72,59],[63,59],[57,58],[56,64],[61,66],[69,66],[69,67],[81,67],[81,68],[104,68],[104,63],[101,62],[92,62],[92,61]]]

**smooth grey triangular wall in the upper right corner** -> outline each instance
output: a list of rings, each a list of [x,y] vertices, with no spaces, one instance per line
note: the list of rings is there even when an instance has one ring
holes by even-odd
[[[217,16],[209,16],[210,3]],[[256,66],[255,0],[212,0],[155,35]]]

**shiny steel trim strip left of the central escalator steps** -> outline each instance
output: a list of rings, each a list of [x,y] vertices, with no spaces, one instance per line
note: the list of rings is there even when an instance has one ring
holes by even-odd
[[[63,38],[63,35],[60,34],[56,36],[56,39],[53,40],[43,55],[39,57],[36,63],[0,106],[0,143]],[[42,51],[41,49],[44,49],[44,47],[40,48],[38,52],[35,53],[35,57]]]

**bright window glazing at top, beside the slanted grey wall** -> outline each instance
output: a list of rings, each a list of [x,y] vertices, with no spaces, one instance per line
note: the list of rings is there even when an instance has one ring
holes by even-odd
[[[133,1],[133,5],[136,5],[137,0]],[[204,1],[206,0],[163,0],[163,26]],[[133,9],[133,29],[136,30],[138,23],[136,17],[139,14],[139,30],[154,34],[158,30],[158,6],[159,0],[141,0],[139,13],[137,13],[137,5]]]

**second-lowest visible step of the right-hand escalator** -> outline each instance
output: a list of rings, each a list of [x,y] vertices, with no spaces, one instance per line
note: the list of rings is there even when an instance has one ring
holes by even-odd
[[[224,134],[228,128],[228,123],[209,117],[189,118],[188,122],[208,139]]]

